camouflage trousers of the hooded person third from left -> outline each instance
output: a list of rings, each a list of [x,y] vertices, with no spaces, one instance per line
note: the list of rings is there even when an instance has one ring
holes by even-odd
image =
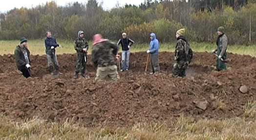
[[[85,68],[86,68],[86,63],[87,63],[87,56],[85,53],[77,53],[77,62],[76,62],[76,72],[81,72],[85,73]]]

